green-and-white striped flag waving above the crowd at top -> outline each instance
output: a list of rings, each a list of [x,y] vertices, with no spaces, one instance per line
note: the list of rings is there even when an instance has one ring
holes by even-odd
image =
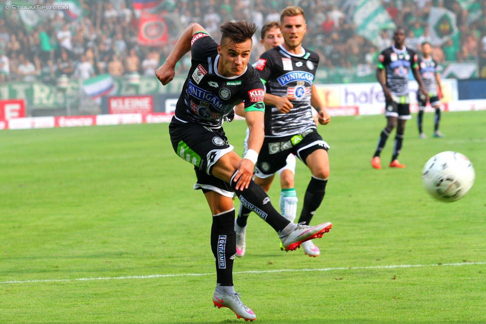
[[[388,11],[379,0],[358,0],[353,13],[353,22],[356,33],[374,45],[378,44],[377,38],[381,29],[396,28]]]

